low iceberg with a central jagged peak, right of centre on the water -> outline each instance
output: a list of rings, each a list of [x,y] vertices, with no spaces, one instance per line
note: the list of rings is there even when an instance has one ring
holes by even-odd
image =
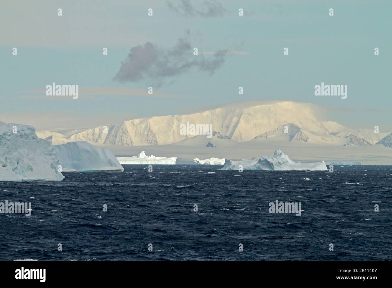
[[[275,150],[274,156],[263,156],[260,159],[252,160],[242,159],[241,161],[225,160],[225,166],[220,170],[239,170],[242,165],[243,170],[311,170],[324,171],[328,170],[324,161],[316,163],[301,163],[292,161],[289,156],[285,155],[281,150]]]

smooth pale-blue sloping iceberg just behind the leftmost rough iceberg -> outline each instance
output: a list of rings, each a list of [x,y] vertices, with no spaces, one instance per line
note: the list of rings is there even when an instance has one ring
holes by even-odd
[[[109,149],[102,149],[87,141],[54,145],[64,172],[124,171]]]

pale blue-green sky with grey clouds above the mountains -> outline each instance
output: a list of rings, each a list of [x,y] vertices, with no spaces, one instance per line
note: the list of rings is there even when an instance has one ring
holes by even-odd
[[[390,0],[2,0],[0,121],[91,128],[272,99],[388,132],[391,11]],[[53,82],[78,85],[78,99],[47,96]],[[347,85],[347,99],[315,96],[321,82]]]

